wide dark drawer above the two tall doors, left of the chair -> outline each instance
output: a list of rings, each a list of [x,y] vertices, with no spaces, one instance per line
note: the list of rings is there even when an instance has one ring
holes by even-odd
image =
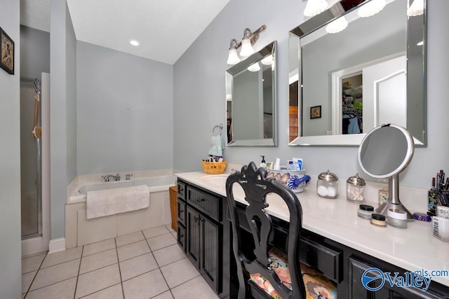
[[[187,203],[218,222],[222,221],[221,201],[220,197],[187,186]]]

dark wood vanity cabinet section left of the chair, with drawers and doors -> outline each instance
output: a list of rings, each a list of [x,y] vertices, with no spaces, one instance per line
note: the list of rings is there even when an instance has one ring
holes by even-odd
[[[224,265],[229,265],[229,247],[224,245],[229,245],[224,235],[229,224],[222,223],[225,199],[191,185],[186,185],[184,199],[177,199],[178,211],[180,206],[185,207],[185,215],[178,214],[177,218],[177,243],[217,295],[229,298],[229,275],[224,278],[223,273]],[[185,238],[179,236],[180,230],[185,230]]]

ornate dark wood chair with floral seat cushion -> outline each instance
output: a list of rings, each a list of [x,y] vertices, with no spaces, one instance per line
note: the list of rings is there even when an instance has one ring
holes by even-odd
[[[234,201],[233,185],[238,183],[248,202],[245,215],[252,232],[254,251],[244,250],[239,212]],[[295,193],[276,181],[267,178],[267,170],[257,169],[254,162],[234,172],[226,181],[227,203],[232,222],[232,246],[239,278],[239,299],[283,298],[305,299],[304,281],[300,270],[300,233],[302,208]],[[283,253],[269,242],[272,218],[264,210],[268,207],[267,195],[276,193],[290,211],[288,249]],[[246,238],[247,239],[247,238]],[[244,240],[247,242],[248,240]],[[288,260],[298,261],[288,264]],[[283,267],[282,267],[283,266]]]

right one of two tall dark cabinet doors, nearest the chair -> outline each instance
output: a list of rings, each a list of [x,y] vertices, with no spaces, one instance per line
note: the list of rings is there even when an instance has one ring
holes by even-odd
[[[221,290],[222,242],[221,225],[201,216],[201,274],[217,293]]]

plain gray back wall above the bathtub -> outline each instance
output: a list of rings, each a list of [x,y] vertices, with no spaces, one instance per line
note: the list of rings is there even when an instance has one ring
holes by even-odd
[[[81,41],[76,61],[78,174],[173,168],[173,66]]]

